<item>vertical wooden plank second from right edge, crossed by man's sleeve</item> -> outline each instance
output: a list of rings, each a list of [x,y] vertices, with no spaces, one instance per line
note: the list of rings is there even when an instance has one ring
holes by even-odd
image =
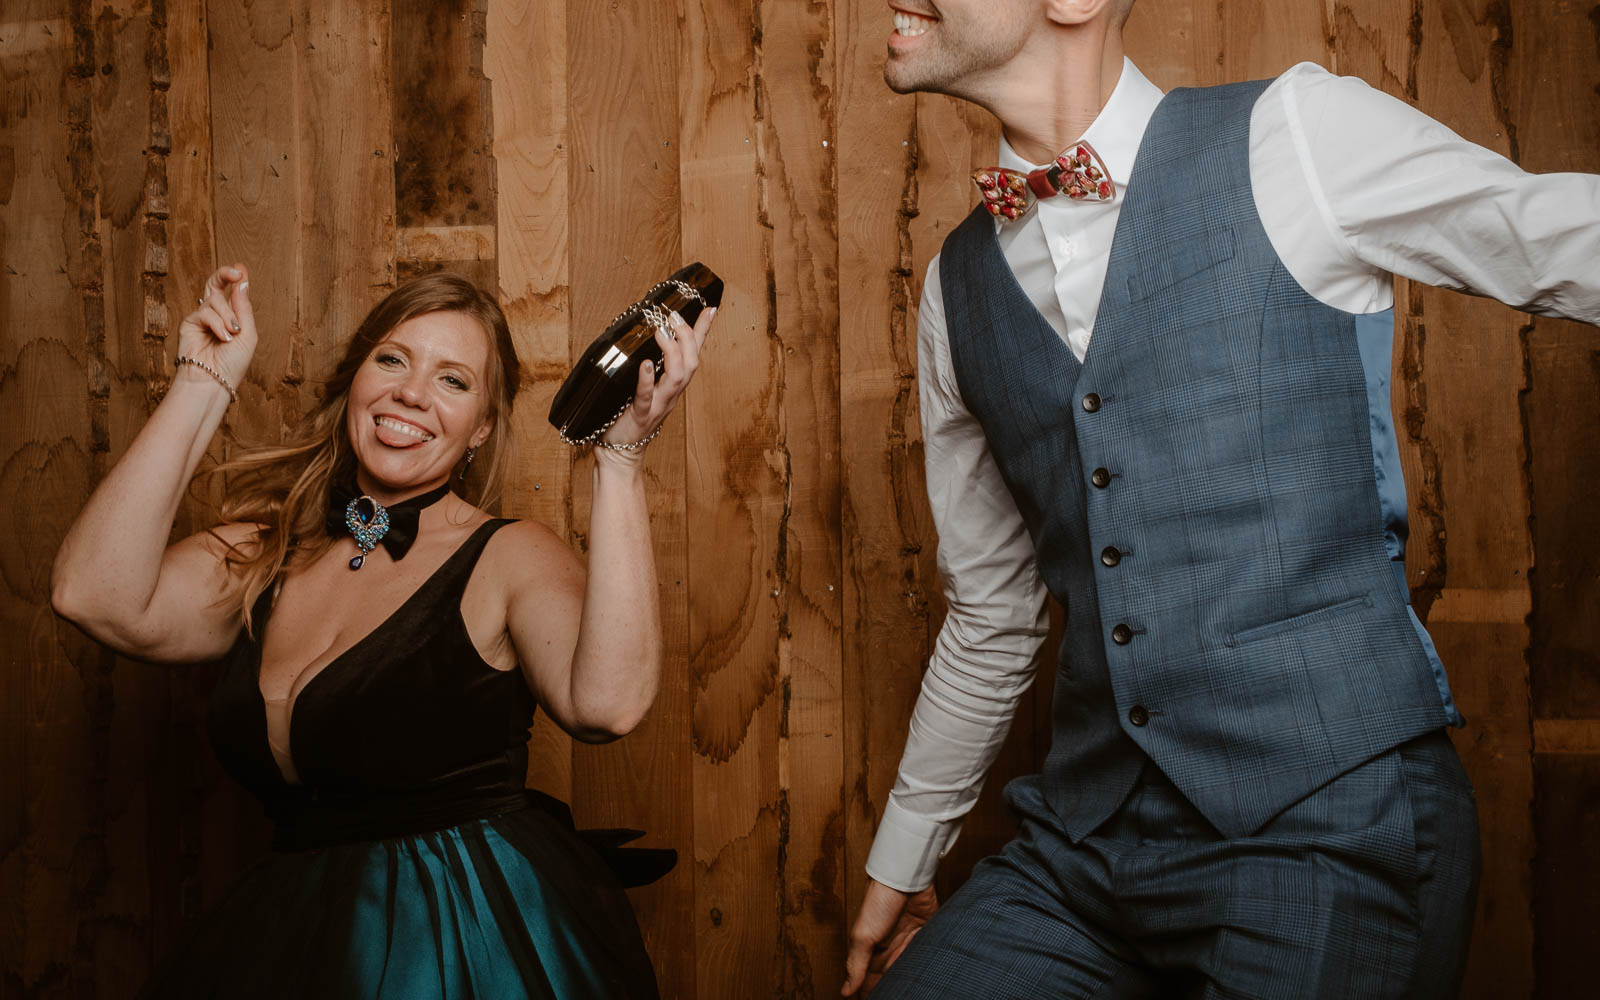
[[[1421,5],[1416,101],[1467,139],[1517,158],[1504,106],[1504,58],[1512,43],[1504,5],[1486,0]],[[1394,14],[1390,14],[1392,18]],[[1526,624],[1445,622],[1426,616],[1451,590],[1515,592],[1526,600],[1531,539],[1528,482],[1523,474],[1526,318],[1507,307],[1438,290],[1403,290],[1405,339],[1424,392],[1411,395],[1406,427],[1418,438],[1418,469],[1437,461],[1426,528],[1437,526],[1422,552],[1432,563],[1416,592],[1418,611],[1450,650],[1445,666],[1469,728],[1456,734],[1478,790],[1483,870],[1464,995],[1533,994],[1533,928],[1528,867],[1533,859],[1530,803],[1533,773],[1526,696]],[[1398,310],[1397,310],[1398,312]],[[1432,333],[1432,336],[1429,336]],[[1402,442],[1402,454],[1408,450]],[[1421,472],[1421,475],[1418,475]],[[1424,490],[1427,490],[1424,486]],[[1426,501],[1424,501],[1426,502]],[[1430,522],[1430,523],[1429,523]],[[1413,538],[1418,531],[1413,528]],[[1493,638],[1491,638],[1493,635]]]

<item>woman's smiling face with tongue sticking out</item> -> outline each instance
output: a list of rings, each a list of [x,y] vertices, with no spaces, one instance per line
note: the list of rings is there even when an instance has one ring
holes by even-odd
[[[389,504],[432,490],[488,438],[488,333],[461,312],[411,317],[373,347],[346,416],[363,493]]]

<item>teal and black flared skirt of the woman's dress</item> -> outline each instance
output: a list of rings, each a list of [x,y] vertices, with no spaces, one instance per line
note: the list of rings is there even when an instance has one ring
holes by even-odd
[[[274,853],[240,875],[144,997],[656,997],[634,912],[538,808]]]

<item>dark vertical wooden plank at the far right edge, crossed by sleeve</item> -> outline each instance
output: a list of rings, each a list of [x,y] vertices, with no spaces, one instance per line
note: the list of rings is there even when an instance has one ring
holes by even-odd
[[[1506,101],[1518,162],[1600,173],[1600,10],[1512,8]],[[1530,680],[1534,714],[1533,942],[1541,997],[1592,981],[1600,925],[1600,538],[1587,498],[1600,482],[1600,331],[1530,317],[1526,477],[1533,504]],[[1586,720],[1586,722],[1579,722]],[[1541,728],[1586,733],[1571,754],[1542,752]]]

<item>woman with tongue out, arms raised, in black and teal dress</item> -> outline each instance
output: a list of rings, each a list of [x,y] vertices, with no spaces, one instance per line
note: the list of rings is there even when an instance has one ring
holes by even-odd
[[[187,483],[256,349],[243,266],[206,282],[171,389],[56,558],[56,610],[149,661],[226,658],[210,731],[274,853],[189,931],[154,997],[640,997],[627,899],[523,792],[534,706],[574,738],[632,730],[661,675],[642,448],[710,326],[661,336],[659,382],[594,461],[589,571],[490,517],[518,362],[451,275],[384,298],[282,446],[222,466],[221,523],[176,544]],[[478,477],[474,477],[478,478]],[[477,498],[483,502],[483,498]]]

